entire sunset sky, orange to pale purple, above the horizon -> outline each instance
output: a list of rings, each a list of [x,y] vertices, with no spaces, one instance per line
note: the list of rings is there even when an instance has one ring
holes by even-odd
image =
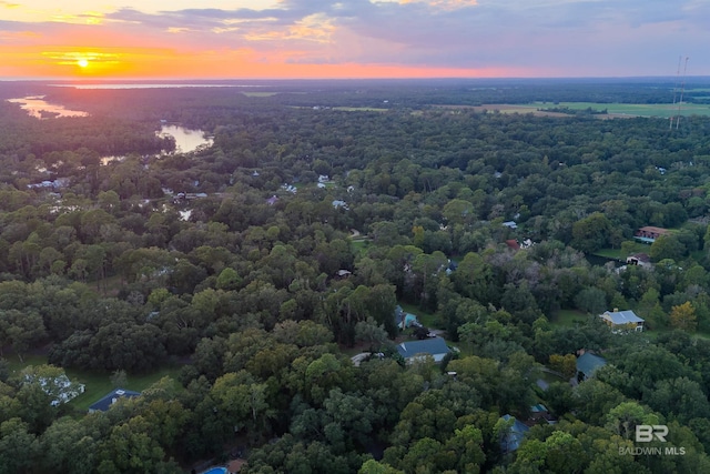
[[[708,44],[710,0],[0,0],[0,79],[710,75]]]

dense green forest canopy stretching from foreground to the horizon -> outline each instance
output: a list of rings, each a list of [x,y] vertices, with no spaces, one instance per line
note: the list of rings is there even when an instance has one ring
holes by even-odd
[[[672,107],[672,80],[211,85],[0,83],[89,113],[0,102],[0,472],[710,472],[710,118],[471,107]],[[455,350],[406,363],[429,330]],[[584,351],[608,363],[582,381]],[[58,367],[179,376],[84,415],[52,406]]]

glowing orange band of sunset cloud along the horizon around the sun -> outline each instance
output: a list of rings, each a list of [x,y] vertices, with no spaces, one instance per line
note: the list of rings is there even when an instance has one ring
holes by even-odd
[[[297,54],[297,52],[292,54]],[[151,48],[32,48],[0,47],[0,75],[115,79],[355,79],[355,78],[470,78],[521,75],[500,68],[426,68],[394,64],[285,63],[251,49],[175,51]],[[80,59],[89,67],[78,65]]]

